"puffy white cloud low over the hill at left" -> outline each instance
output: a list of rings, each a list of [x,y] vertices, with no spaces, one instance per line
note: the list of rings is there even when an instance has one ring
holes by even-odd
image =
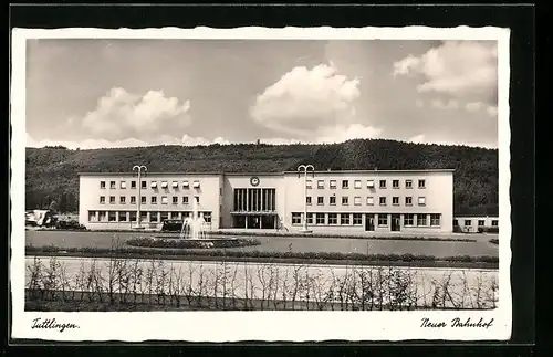
[[[179,103],[175,97],[165,97],[163,91],[137,95],[115,87],[98,99],[97,107],[82,118],[82,125],[91,137],[109,141],[178,137],[191,123],[189,109],[189,101]]]

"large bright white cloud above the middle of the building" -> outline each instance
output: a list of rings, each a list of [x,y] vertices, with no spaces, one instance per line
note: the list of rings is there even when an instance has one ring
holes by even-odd
[[[264,127],[300,138],[323,127],[354,124],[359,80],[336,73],[331,63],[296,66],[257,96],[250,108]]]

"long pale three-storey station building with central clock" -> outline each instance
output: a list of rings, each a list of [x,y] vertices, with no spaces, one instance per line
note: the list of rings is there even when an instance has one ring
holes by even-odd
[[[197,211],[207,230],[298,231],[306,206],[313,232],[447,233],[453,171],[148,172],[140,182],[136,172],[80,174],[79,204],[88,229],[131,229],[138,214],[159,229]]]

